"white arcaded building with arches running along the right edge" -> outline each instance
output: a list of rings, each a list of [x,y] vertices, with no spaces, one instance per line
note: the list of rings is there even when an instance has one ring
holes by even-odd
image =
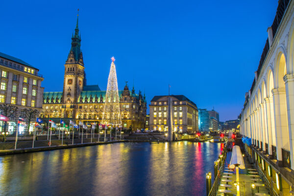
[[[274,191],[288,196],[294,187],[293,0],[279,0],[267,31],[254,80],[245,93],[240,132],[250,138],[247,154],[265,173]]]

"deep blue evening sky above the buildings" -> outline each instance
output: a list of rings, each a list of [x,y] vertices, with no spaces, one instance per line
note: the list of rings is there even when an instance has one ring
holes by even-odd
[[[257,70],[278,0],[6,0],[0,51],[39,68],[45,91],[62,91],[79,11],[88,84],[106,90],[111,56],[119,89],[185,95],[236,119]],[[149,110],[147,111],[148,114]]]

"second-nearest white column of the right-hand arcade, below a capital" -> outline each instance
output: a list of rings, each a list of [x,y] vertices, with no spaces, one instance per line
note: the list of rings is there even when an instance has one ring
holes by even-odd
[[[282,161],[281,149],[289,149],[289,132],[286,111],[286,91],[285,88],[275,88],[272,89],[271,92],[273,95],[277,160]]]

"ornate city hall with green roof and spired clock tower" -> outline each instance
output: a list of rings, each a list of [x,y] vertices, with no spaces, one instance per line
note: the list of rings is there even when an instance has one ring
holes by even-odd
[[[98,85],[86,85],[83,54],[80,50],[81,38],[78,35],[78,21],[72,37],[72,47],[65,63],[62,92],[45,92],[43,96],[42,118],[63,118],[76,123],[99,123],[102,120],[106,91]],[[106,81],[105,81],[106,82]],[[146,97],[141,91],[135,94],[126,83],[119,91],[120,112],[123,128],[133,130],[145,128]],[[59,121],[59,119],[56,119]]]

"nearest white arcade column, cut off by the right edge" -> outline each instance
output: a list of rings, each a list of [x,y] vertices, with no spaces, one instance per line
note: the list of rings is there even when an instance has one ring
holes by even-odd
[[[284,81],[287,101],[291,169],[294,170],[294,75],[286,74],[284,76]]]

